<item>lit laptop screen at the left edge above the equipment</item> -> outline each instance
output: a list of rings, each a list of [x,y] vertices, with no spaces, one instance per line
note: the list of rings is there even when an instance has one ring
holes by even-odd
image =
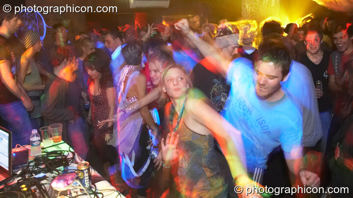
[[[0,127],[0,166],[11,171],[11,132]]]

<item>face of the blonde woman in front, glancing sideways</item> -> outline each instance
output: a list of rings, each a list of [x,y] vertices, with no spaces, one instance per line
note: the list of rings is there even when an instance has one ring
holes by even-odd
[[[170,98],[179,98],[187,93],[190,85],[186,82],[186,75],[179,68],[170,68],[163,79],[163,92],[166,92]]]

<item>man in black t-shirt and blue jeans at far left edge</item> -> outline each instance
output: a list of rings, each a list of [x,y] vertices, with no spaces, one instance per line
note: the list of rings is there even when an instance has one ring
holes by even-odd
[[[12,131],[12,147],[28,144],[32,129],[26,110],[31,111],[33,105],[24,88],[13,78],[11,70],[15,57],[8,44],[9,37],[21,23],[21,19],[12,12],[0,13],[0,116],[7,125],[5,128]]]

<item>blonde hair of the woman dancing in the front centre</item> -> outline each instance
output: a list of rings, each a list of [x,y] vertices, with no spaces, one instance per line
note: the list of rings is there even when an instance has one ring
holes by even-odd
[[[183,66],[181,66],[181,65],[178,65],[178,64],[172,64],[170,66],[167,66],[163,70],[162,75],[161,75],[161,79],[159,80],[159,87],[160,88],[163,88],[165,86],[164,78],[166,77],[168,70],[171,69],[171,68],[180,69],[183,72],[183,74],[185,75],[186,84],[189,85],[189,88],[192,88],[193,85],[192,85],[191,79],[190,79],[189,75],[187,74],[185,68]],[[160,95],[160,97],[158,99],[159,106],[163,107],[168,101],[169,101],[168,94],[163,92],[163,91],[161,91],[161,95]]]

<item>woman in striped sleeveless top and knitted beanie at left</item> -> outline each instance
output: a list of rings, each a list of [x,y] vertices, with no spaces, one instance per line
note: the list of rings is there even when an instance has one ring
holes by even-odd
[[[21,40],[26,50],[16,64],[17,82],[20,83],[31,99],[33,110],[29,112],[30,120],[34,129],[39,129],[41,126],[41,113],[40,113],[40,96],[43,93],[44,85],[40,74],[50,76],[48,72],[42,72],[41,66],[37,65],[33,56],[39,52],[42,43],[38,33],[29,30],[25,33],[24,38]]]

